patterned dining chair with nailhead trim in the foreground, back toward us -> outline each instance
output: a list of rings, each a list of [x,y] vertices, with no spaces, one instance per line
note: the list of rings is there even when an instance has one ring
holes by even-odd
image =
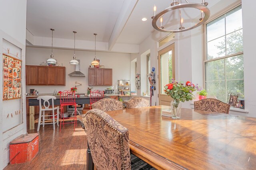
[[[83,115],[92,160],[97,170],[154,170],[130,154],[129,130],[100,109]],[[136,162],[131,162],[136,161]]]

